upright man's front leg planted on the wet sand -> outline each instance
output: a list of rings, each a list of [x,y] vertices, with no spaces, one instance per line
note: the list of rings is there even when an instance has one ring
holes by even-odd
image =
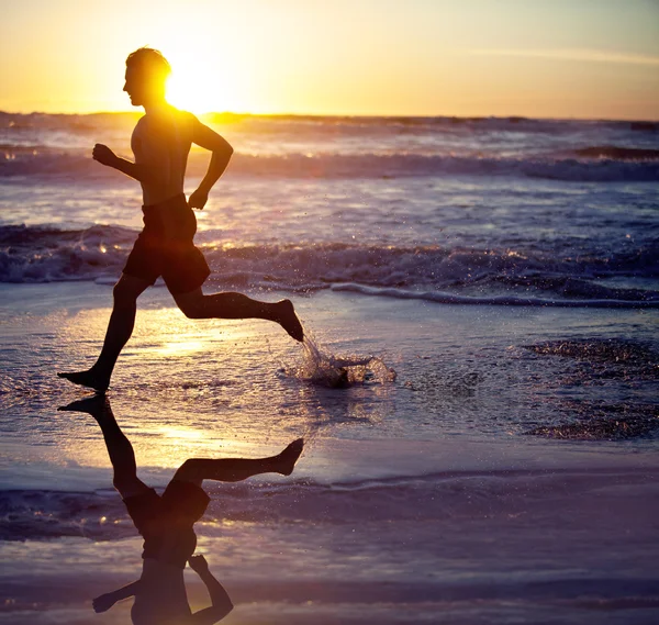
[[[101,354],[91,369],[70,373],[57,373],[74,384],[89,387],[98,392],[105,392],[110,386],[110,378],[116,365],[116,359],[124,345],[133,334],[135,315],[137,313],[137,298],[150,286],[143,278],[122,274],[114,286],[112,314],[105,332],[105,341]]]

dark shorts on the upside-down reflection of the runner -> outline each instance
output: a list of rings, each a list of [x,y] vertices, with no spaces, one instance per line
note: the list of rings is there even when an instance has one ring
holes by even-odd
[[[186,568],[197,548],[193,525],[203,516],[209,502],[201,487],[181,480],[171,480],[161,496],[148,489],[124,499],[144,538],[142,557]]]

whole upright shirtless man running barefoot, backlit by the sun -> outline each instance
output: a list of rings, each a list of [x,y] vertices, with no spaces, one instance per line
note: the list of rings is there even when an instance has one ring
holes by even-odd
[[[120,158],[102,144],[92,153],[101,165],[139,181],[144,201],[144,230],[114,286],[114,305],[98,360],[87,371],[57,373],[99,392],[110,386],[116,359],[133,333],[137,298],[159,276],[190,319],[264,319],[279,323],[295,341],[304,338],[290,300],[268,303],[242,293],[203,294],[202,284],[211,271],[192,241],[197,232],[192,209],[204,208],[233,148],[193,114],[167,102],[169,72],[169,63],[158,51],[143,47],[129,55],[124,91],[133,105],[145,110],[131,137],[135,163]],[[211,150],[212,158],[199,188],[186,200],[183,178],[193,143]]]

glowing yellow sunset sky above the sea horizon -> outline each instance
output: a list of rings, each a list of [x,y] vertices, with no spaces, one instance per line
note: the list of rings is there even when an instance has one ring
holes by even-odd
[[[659,0],[0,0],[0,110],[659,120]]]

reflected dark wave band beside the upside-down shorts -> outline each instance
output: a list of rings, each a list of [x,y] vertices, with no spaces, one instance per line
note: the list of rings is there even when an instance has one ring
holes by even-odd
[[[654,471],[637,481],[652,483]],[[223,523],[265,523],[300,527],[348,526],[377,517],[388,522],[459,524],[481,513],[509,518],[520,501],[547,500],[565,494],[566,480],[579,480],[587,490],[610,486],[608,471],[537,470],[446,471],[351,482],[321,483],[292,479],[287,483],[208,482],[211,503],[203,516],[204,535],[222,535]],[[161,490],[161,489],[157,489]],[[529,494],[534,491],[537,494]],[[201,524],[200,524],[201,525]],[[0,539],[49,539],[63,536],[92,540],[137,537],[125,505],[115,492],[47,490],[0,491]]]

